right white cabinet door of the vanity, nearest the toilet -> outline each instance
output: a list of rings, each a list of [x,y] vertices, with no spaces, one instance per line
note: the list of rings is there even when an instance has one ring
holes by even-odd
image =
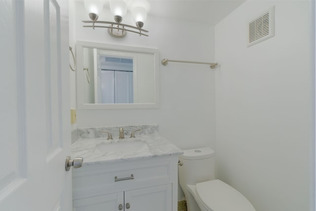
[[[172,211],[172,184],[125,191],[124,197],[125,211]]]

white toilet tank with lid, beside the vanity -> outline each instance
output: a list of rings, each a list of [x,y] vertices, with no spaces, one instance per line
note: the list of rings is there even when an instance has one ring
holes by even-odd
[[[215,179],[215,152],[209,147],[184,150],[179,158],[181,187]]]

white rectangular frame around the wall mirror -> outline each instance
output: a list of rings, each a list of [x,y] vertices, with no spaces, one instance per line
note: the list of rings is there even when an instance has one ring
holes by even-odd
[[[154,103],[84,103],[84,74],[83,74],[83,47],[99,48],[106,50],[122,50],[125,52],[138,52],[154,54],[154,87],[155,102]],[[126,45],[107,44],[99,42],[77,41],[76,43],[76,60],[77,60],[77,108],[78,109],[137,109],[137,108],[158,108],[159,107],[159,51],[154,48],[144,48]]]

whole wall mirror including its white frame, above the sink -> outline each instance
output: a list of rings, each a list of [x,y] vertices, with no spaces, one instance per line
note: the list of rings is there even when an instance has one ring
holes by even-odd
[[[158,50],[78,41],[79,109],[158,108]]]

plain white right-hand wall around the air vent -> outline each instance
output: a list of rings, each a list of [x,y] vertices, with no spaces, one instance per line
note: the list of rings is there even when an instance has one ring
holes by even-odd
[[[248,48],[247,23],[273,5],[276,36]],[[313,8],[249,0],[215,27],[216,174],[256,211],[314,210]]]

